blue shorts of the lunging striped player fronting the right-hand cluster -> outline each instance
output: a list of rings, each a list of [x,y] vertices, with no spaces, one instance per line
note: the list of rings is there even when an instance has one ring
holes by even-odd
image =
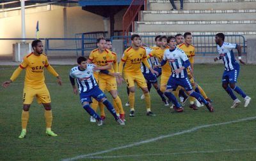
[[[170,76],[167,85],[166,85],[166,90],[168,89],[173,89],[176,90],[176,88],[178,86],[183,87],[186,91],[192,90],[192,85],[188,79],[188,77],[186,78],[175,78]]]

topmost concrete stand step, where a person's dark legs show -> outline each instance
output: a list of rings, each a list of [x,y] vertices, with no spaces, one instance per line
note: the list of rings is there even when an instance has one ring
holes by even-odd
[[[180,1],[174,1],[180,8]],[[255,9],[256,0],[184,0],[184,10],[242,10]],[[148,10],[170,10],[169,0],[149,0]]]

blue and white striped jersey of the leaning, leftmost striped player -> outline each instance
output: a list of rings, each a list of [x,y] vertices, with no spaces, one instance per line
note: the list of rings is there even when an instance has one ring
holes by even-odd
[[[87,64],[84,71],[79,69],[79,66],[73,67],[69,73],[70,77],[76,78],[79,93],[89,92],[94,87],[98,86],[97,81],[93,77],[93,68],[95,65]]]

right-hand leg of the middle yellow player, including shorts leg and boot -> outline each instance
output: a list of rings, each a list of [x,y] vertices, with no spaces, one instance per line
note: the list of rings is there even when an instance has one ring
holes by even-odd
[[[143,94],[145,95],[145,103],[146,103],[146,108],[147,108],[147,116],[156,116],[151,111],[150,94],[149,94],[149,91],[148,91],[148,88],[147,88],[147,82],[146,82],[143,74],[137,75],[134,78],[134,80],[136,81],[136,83],[138,84],[138,87],[141,88]]]

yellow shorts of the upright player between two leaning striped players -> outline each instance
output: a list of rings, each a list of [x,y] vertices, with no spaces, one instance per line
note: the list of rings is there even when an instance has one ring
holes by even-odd
[[[126,81],[128,88],[134,87],[134,82],[136,82],[140,88],[147,88],[147,82],[142,73],[137,75],[132,75],[129,73],[124,74],[124,80]]]

